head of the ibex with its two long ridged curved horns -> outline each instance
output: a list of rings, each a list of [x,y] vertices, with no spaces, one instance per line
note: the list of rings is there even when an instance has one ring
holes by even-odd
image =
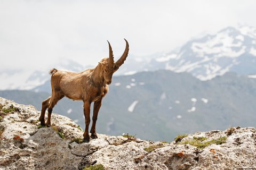
[[[99,64],[102,64],[102,66],[103,66],[103,77],[105,79],[106,84],[111,83],[113,73],[116,72],[122,64],[124,64],[124,61],[126,60],[126,57],[128,56],[129,44],[126,39],[124,39],[124,40],[126,42],[126,47],[125,47],[123,55],[119,58],[118,61],[114,62],[113,51],[112,51],[110,43],[108,42],[109,57],[103,58],[99,62]]]

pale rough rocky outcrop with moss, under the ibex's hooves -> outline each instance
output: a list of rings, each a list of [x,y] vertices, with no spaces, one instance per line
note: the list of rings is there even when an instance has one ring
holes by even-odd
[[[35,107],[0,98],[0,169],[256,169],[256,131],[230,128],[197,132],[176,141],[151,142],[83,131],[68,117],[52,115],[41,128]]]

